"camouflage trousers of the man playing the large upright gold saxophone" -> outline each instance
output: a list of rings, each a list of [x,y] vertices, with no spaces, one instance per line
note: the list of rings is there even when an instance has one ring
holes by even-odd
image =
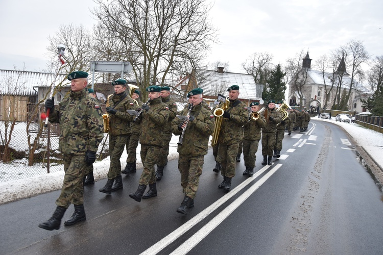
[[[221,174],[223,176],[229,178],[235,176],[235,158],[238,153],[238,146],[240,146],[240,143],[233,143],[230,145],[220,144],[218,157],[221,161]]]

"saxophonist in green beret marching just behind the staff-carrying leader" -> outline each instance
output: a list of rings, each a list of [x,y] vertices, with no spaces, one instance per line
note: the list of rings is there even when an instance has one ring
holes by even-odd
[[[106,112],[109,114],[110,166],[107,175],[108,181],[99,190],[106,194],[123,188],[120,158],[124,152],[126,141],[130,136],[129,122],[133,120],[133,116],[127,110],[135,109],[132,98],[125,93],[126,81],[118,79],[112,82],[112,85],[114,86],[114,93],[109,97],[110,106],[106,108]]]

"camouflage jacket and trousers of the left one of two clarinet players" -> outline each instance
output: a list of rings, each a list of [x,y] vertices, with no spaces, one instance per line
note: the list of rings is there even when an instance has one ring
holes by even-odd
[[[164,126],[169,118],[169,107],[162,102],[161,97],[155,98],[148,104],[150,109],[143,112],[141,120],[141,162],[143,171],[139,179],[140,185],[148,185],[156,182],[154,165],[157,162],[160,149],[163,146]]]

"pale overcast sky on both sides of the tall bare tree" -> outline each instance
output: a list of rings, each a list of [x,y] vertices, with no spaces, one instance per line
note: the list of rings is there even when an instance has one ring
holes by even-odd
[[[47,37],[61,24],[91,29],[94,7],[92,0],[0,0],[0,69],[22,69],[23,63],[28,71],[45,68]],[[242,63],[254,53],[270,53],[274,64],[284,65],[303,49],[314,62],[350,40],[381,56],[382,10],[381,0],[216,0],[210,17],[220,43],[207,60],[244,72]]]

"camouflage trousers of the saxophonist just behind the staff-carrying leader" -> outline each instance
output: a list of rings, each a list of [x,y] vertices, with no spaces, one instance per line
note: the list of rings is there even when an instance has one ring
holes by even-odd
[[[124,152],[128,136],[109,136],[110,166],[108,179],[111,180],[121,174],[121,162],[119,159]]]

